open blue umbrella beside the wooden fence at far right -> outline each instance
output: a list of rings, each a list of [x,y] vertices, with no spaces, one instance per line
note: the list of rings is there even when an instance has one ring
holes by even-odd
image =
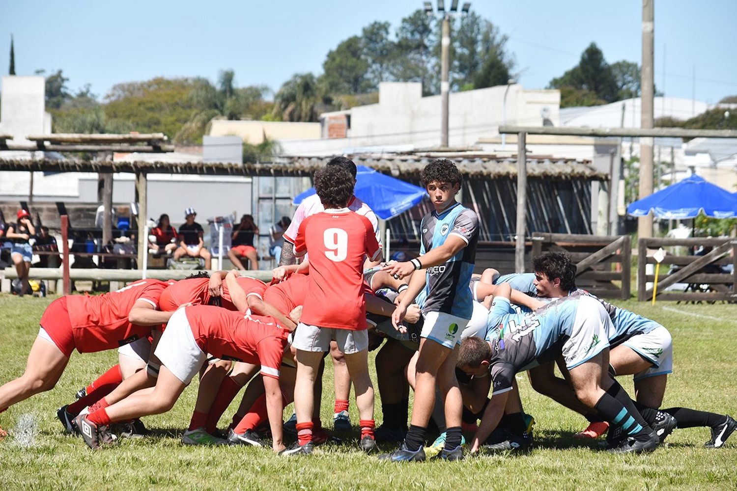
[[[673,220],[695,218],[699,211],[715,218],[732,218],[737,216],[737,197],[693,174],[627,207],[632,216],[646,216],[651,210],[657,218]]]

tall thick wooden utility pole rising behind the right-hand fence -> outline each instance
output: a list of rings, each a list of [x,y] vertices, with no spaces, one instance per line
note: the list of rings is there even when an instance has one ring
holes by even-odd
[[[640,87],[642,93],[642,111],[640,127],[643,130],[654,126],[653,118],[653,96],[654,96],[654,74],[653,74],[653,3],[654,0],[643,0],[643,66],[640,74]],[[639,199],[652,194],[653,179],[653,140],[652,136],[640,138],[640,196]],[[640,216],[638,218],[638,236],[652,237],[652,215]]]

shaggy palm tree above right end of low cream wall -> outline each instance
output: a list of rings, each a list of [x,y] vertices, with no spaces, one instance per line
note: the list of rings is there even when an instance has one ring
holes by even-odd
[[[282,121],[318,121],[318,107],[325,102],[314,74],[294,74],[276,92],[272,114]]]

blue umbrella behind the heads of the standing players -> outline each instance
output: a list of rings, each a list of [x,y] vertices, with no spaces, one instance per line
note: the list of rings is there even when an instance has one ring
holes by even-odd
[[[394,218],[422,201],[427,195],[425,189],[391,177],[366,166],[356,166],[355,195],[380,219]],[[315,188],[307,189],[297,195],[294,204],[298,205],[308,196],[315,194]]]

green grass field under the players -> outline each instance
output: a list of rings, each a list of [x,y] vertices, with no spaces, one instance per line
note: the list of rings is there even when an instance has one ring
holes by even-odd
[[[38,319],[52,299],[0,295],[0,384],[21,375]],[[620,303],[656,319],[671,331],[674,374],[664,407],[737,414],[737,305]],[[520,374],[525,410],[537,420],[536,445],[520,456],[481,456],[463,462],[391,464],[364,456],[354,442],[318,448],[305,459],[284,459],[270,450],[191,448],[180,444],[197,393],[186,389],[174,409],[144,418],[153,436],[93,452],[80,437],[63,434],[55,410],[74,392],[116,363],[116,352],[71,357],[55,389],[0,414],[11,436],[0,442],[0,482],[8,489],[736,489],[737,436],[725,448],[707,450],[708,428],[677,430],[667,445],[645,456],[612,456],[593,442],[571,437],[586,422],[534,393]],[[332,371],[326,370],[332,377]],[[620,378],[632,389],[629,378]],[[375,378],[374,378],[375,381]],[[326,387],[332,380],[326,380]],[[378,395],[378,392],[377,392]],[[234,403],[235,406],[235,403]],[[234,409],[231,406],[231,409]],[[291,411],[291,407],[286,412]],[[24,447],[13,429],[30,414],[38,425],[35,445]],[[221,420],[229,419],[231,410]],[[332,421],[332,390],[322,419]],[[351,418],[358,417],[351,406]],[[377,424],[380,401],[377,400]],[[390,450],[391,448],[386,448]]]

